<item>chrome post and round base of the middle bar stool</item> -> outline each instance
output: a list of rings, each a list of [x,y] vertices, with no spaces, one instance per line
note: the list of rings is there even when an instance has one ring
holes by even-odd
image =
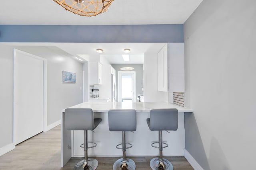
[[[136,167],[135,162],[132,159],[126,158],[126,149],[127,148],[126,148],[126,141],[125,141],[125,131],[122,131],[123,158],[116,160],[116,162],[113,165],[113,170],[135,170],[135,167]]]

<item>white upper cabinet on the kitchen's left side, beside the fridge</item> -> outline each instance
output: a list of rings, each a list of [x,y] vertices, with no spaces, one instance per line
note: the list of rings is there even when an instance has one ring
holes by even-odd
[[[102,84],[102,64],[89,62],[89,84]]]

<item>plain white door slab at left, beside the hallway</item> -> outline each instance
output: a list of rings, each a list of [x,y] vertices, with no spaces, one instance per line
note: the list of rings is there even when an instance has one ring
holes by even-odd
[[[14,51],[14,144],[43,131],[44,61]]]

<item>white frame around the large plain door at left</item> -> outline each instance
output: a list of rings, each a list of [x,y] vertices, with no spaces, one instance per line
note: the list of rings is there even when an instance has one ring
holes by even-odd
[[[15,128],[16,128],[16,125],[15,125],[15,118],[17,117],[16,116],[16,113],[14,111],[14,99],[15,99],[15,94],[14,94],[14,84],[15,84],[15,80],[14,80],[14,66],[15,66],[15,58],[17,57],[16,56],[16,53],[20,53],[20,54],[24,54],[24,55],[27,55],[29,57],[33,57],[35,59],[39,59],[39,60],[42,60],[43,61],[43,131],[46,132],[47,131],[47,60],[42,58],[42,57],[38,57],[36,55],[32,55],[30,53],[26,53],[24,51],[21,51],[21,50],[18,50],[18,49],[13,49],[13,69],[12,69],[12,79],[13,79],[13,86],[12,86],[12,143],[15,142],[15,137],[14,137],[14,131],[15,131]],[[16,145],[14,143],[14,145]]]

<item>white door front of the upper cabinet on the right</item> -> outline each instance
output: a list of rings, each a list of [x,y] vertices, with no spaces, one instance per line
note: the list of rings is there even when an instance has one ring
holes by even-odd
[[[158,91],[168,92],[168,45],[157,54],[158,64]]]

